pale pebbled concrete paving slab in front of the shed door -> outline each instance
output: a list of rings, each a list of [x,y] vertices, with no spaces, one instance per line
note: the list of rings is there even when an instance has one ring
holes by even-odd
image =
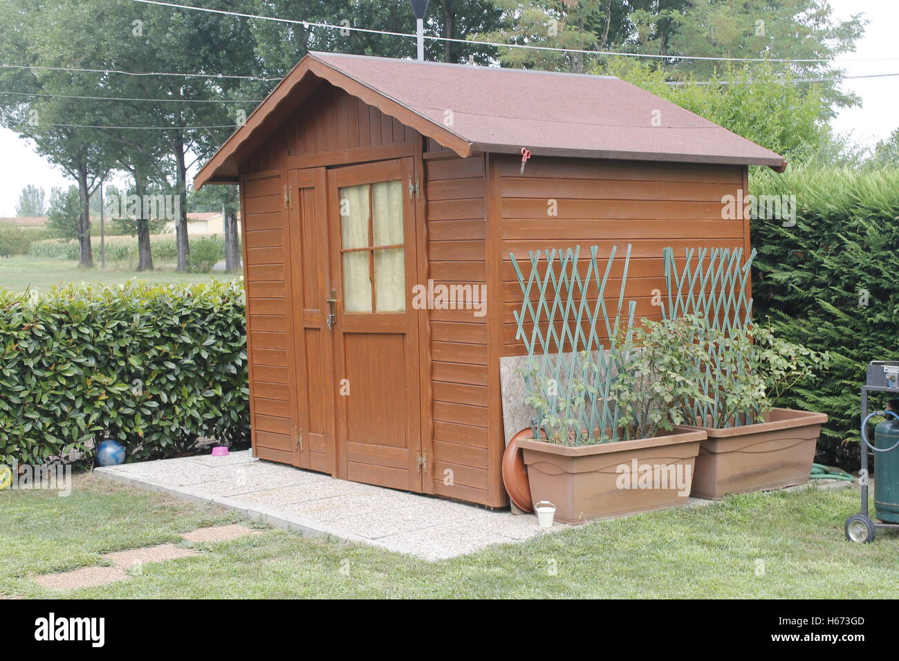
[[[542,533],[532,514],[492,512],[476,505],[334,479],[254,460],[250,451],[232,452],[227,457],[143,461],[94,473],[236,509],[276,527],[360,541],[427,560],[452,558]],[[556,525],[553,530],[563,527]]]

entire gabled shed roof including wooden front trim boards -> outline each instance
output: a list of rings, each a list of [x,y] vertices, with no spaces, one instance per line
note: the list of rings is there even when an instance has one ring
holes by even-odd
[[[533,156],[786,166],[783,156],[613,76],[310,51],[194,185],[236,181],[240,161],[322,80],[459,156],[527,147]]]

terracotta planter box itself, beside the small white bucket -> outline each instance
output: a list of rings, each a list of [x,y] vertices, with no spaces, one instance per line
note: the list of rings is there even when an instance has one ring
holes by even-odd
[[[519,440],[533,503],[556,505],[556,521],[586,523],[681,505],[706,433],[678,427],[637,441],[568,447]]]

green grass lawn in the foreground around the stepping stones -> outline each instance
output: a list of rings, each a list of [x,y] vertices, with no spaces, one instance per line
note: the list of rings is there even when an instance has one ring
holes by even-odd
[[[205,551],[200,557],[145,564],[140,576],[65,595],[895,598],[899,537],[881,531],[872,544],[844,540],[843,521],[857,508],[853,489],[730,496],[436,563],[266,529],[197,545]],[[76,476],[68,497],[0,492],[0,594],[56,596],[31,576],[102,564],[103,552],[184,545],[174,533],[236,521],[236,514],[90,475]]]

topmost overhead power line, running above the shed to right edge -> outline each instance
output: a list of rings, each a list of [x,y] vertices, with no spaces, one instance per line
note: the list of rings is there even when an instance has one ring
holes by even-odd
[[[322,22],[312,22],[312,21],[298,21],[296,19],[289,18],[275,18],[273,16],[260,16],[254,13],[240,13],[240,12],[228,12],[223,9],[209,9],[208,7],[197,7],[191,4],[176,4],[176,3],[167,3],[162,2],[162,0],[132,0],[132,2],[143,3],[143,4],[157,4],[164,7],[174,7],[176,9],[189,9],[195,12],[207,12],[207,13],[218,13],[226,16],[236,16],[239,18],[252,18],[258,21],[274,21],[274,22],[285,22],[291,23],[294,25],[304,25],[306,27],[313,26],[319,28],[326,28],[329,30],[347,30],[347,31],[357,31],[357,32],[369,32],[374,34],[385,34],[393,37],[405,37],[407,39],[416,39],[417,35],[409,34],[408,32],[393,32],[386,30],[372,30],[370,28],[356,28],[351,25],[332,25],[330,23],[322,23]],[[843,58],[843,59],[826,59],[826,58],[714,58],[708,56],[699,56],[699,55],[655,55],[652,53],[626,53],[614,50],[585,50],[585,49],[559,49],[551,46],[532,46],[530,44],[510,44],[510,43],[498,43],[495,41],[481,41],[481,40],[467,40],[467,39],[453,39],[451,37],[437,37],[429,34],[424,35],[424,39],[430,40],[438,40],[438,41],[451,41],[454,43],[464,43],[464,44],[476,44],[478,46],[494,46],[496,48],[505,48],[505,49],[534,49],[534,50],[550,50],[554,52],[563,52],[563,53],[576,53],[581,55],[615,55],[623,58],[656,58],[656,59],[695,59],[695,60],[712,60],[716,62],[783,62],[783,63],[802,63],[802,64],[811,64],[811,63],[827,63],[827,62],[882,62],[887,60],[899,60],[899,58]]]

